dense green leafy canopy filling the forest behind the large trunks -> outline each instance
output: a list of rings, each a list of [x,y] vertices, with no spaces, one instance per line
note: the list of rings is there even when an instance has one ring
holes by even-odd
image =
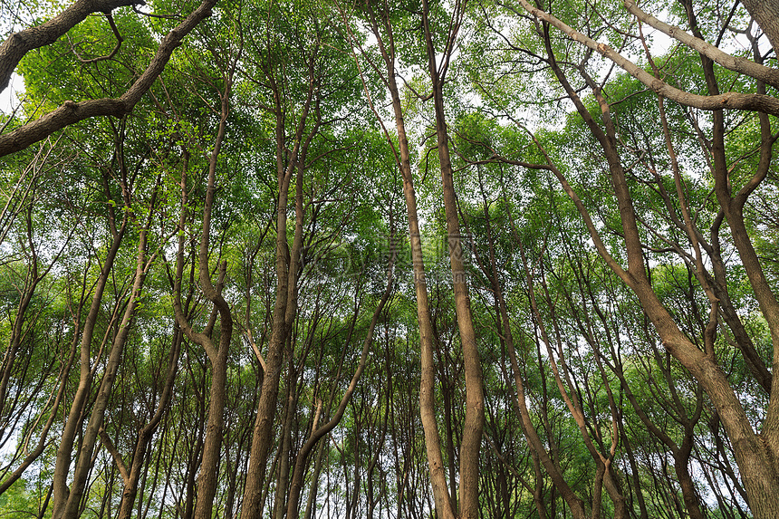
[[[547,4],[544,8],[582,34],[619,49],[647,71],[657,67],[663,81],[690,93],[708,93],[703,65],[692,50],[672,48],[653,54],[649,62],[621,2]],[[159,1],[145,9],[188,13],[194,5]],[[438,53],[453,7],[430,5]],[[643,7],[686,24],[678,5]],[[716,275],[758,357],[771,364],[770,322],[713,193],[715,118],[659,101],[634,77],[612,70],[599,54],[520,14],[519,6],[469,3],[464,8],[444,92],[486,392],[481,513],[534,517],[536,492],[547,516],[568,514],[549,464],[590,507],[598,490],[597,466],[608,458],[630,515],[642,513],[641,497],[650,517],[685,516],[673,472],[686,465],[697,494],[706,496],[705,514],[736,516],[734,510],[745,506],[742,482],[728,468],[736,466],[736,458],[712,400],[663,348],[639,299],[603,258],[608,255],[627,268],[623,218],[626,210],[635,211],[641,268],[684,337],[705,350],[712,308],[706,284]],[[719,32],[735,37],[720,26],[726,8],[717,2],[696,5],[707,38]],[[238,513],[257,401],[267,377],[256,353],[266,355],[278,325],[277,273],[289,274],[292,263],[286,255],[298,217],[303,245],[299,273],[294,273],[299,274],[294,306],[287,308],[292,324],[284,342],[281,398],[266,417],[274,420],[274,436],[265,510],[272,509],[276,493],[284,501],[288,489],[282,467],[293,468],[314,426],[332,418],[345,394],[393,258],[389,303],[377,318],[368,365],[341,423],[317,447],[322,449],[319,473],[314,467],[320,451],[309,457],[303,496],[318,493],[313,507],[329,507],[331,516],[346,515],[347,508],[351,516],[396,510],[403,517],[431,514],[418,417],[420,337],[407,209],[395,155],[398,132],[394,115],[387,115],[386,70],[377,64],[383,62],[376,34],[369,34],[374,21],[385,51],[394,53],[410,139],[434,324],[435,412],[447,483],[456,493],[466,389],[420,10],[416,0],[351,6],[302,0],[219,3],[174,53],[132,114],[72,126],[5,159],[0,168],[2,205],[8,208],[0,216],[0,387],[5,387],[0,441],[8,449],[9,470],[34,448],[49,418],[53,427],[43,437],[48,446],[43,454],[0,495],[0,518],[39,514],[84,359],[91,389],[79,414],[90,416],[107,351],[129,302],[143,232],[149,238],[147,274],[102,426],[122,463],[130,465],[139,431],[159,411],[159,428],[141,460],[146,486],[134,514],[193,513],[215,377],[207,351],[191,336],[181,339],[187,334],[175,320],[174,286],[181,284],[188,325],[217,341],[225,329],[222,314],[203,291],[202,276],[210,276],[233,327],[215,514]],[[18,72],[28,95],[26,116],[38,117],[66,100],[120,96],[148,64],[161,35],[179,21],[173,15],[142,16],[127,7],[111,15],[124,39],[111,59],[84,62],[114,48],[104,15],[89,16],[66,37],[25,56]],[[731,26],[744,28],[744,22],[738,7]],[[542,39],[547,29],[554,63],[570,78],[596,130],[609,130],[609,118],[613,121],[631,207],[620,207],[615,165],[606,158],[597,131],[572,110],[553,72]],[[357,43],[364,53],[355,49]],[[657,52],[651,41],[649,49]],[[754,79],[720,66],[716,81],[723,90],[757,88]],[[593,84],[608,103],[607,114],[591,93]],[[374,120],[374,110],[384,128]],[[210,242],[201,251],[209,160],[223,115],[224,141],[213,163]],[[769,121],[775,126],[773,117]],[[760,165],[761,132],[767,128],[761,124],[765,120],[752,112],[724,115],[723,156],[732,193],[747,186]],[[279,178],[286,171],[292,172],[289,198],[286,207],[279,207]],[[591,227],[560,178],[582,201]],[[745,206],[747,237],[774,293],[779,286],[776,182],[771,164]],[[683,209],[697,230],[697,243],[690,238]],[[276,228],[280,211],[286,213],[286,226]],[[96,306],[95,332],[81,357],[78,345],[91,298],[125,218],[127,230]],[[605,245],[600,252],[593,232]],[[282,235],[278,249],[277,233]],[[201,253],[207,260],[203,273]],[[220,278],[223,262],[226,271]],[[708,278],[699,272],[701,265]],[[41,279],[24,310],[20,302],[33,286],[36,269]],[[734,323],[721,311],[715,317],[712,355],[758,430],[765,427],[768,396],[756,387],[736,347]],[[511,336],[505,332],[506,319]],[[172,352],[179,339],[176,360]],[[171,368],[171,398],[160,408]],[[516,378],[523,384],[526,422]],[[61,387],[63,403],[53,410]],[[315,418],[317,409],[321,414]],[[528,424],[541,438],[543,453],[528,447]],[[84,500],[83,514],[95,517],[113,516],[123,491],[117,461],[102,440]],[[685,441],[692,442],[688,457],[674,458],[668,444],[678,447]],[[80,448],[69,453],[73,460]],[[534,459],[540,454],[548,457],[546,466]],[[734,489],[731,495],[727,488]],[[712,505],[716,500],[718,508]],[[606,497],[602,514],[611,516],[614,508]]]

